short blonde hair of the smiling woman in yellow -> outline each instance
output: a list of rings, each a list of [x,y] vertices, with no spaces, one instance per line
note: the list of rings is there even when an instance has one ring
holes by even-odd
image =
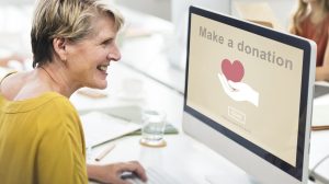
[[[31,31],[33,67],[53,60],[53,39],[83,39],[92,32],[92,18],[106,14],[118,31],[124,19],[112,5],[101,0],[38,0]]]

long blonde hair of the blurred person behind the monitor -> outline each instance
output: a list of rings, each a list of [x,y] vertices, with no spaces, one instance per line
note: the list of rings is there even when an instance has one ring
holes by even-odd
[[[329,0],[317,0],[324,12],[329,12]],[[309,13],[309,7],[307,2],[304,0],[298,0],[296,10],[292,16],[292,25],[290,27],[290,32],[293,34],[302,33],[303,30],[300,27],[300,23],[306,19]]]

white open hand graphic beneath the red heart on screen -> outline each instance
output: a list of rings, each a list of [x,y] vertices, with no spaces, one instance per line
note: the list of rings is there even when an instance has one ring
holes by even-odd
[[[227,80],[225,74],[218,73],[218,79],[225,93],[234,101],[247,101],[258,106],[259,93],[243,82]]]

